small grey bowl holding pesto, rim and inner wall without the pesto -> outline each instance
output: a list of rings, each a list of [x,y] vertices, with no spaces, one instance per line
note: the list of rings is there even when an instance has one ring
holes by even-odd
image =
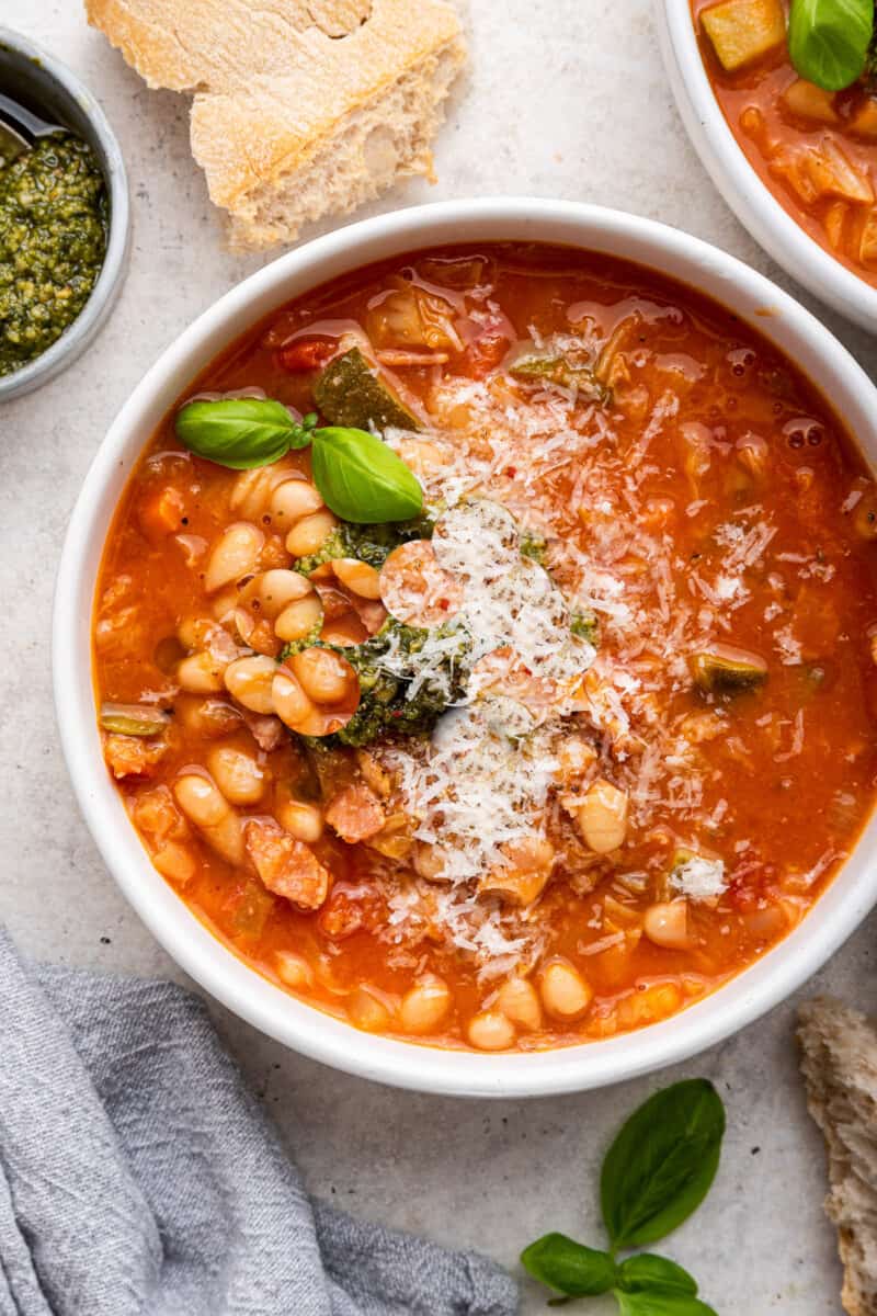
[[[97,157],[109,197],[107,253],[88,301],[42,355],[12,374],[0,375],[0,401],[5,401],[66,370],[107,320],[128,266],[130,205],[122,153],[92,93],[54,55],[9,28],[0,28],[0,91],[79,133]]]

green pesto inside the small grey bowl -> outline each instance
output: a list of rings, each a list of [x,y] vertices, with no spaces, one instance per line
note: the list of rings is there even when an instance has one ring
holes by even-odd
[[[37,142],[0,170],[0,375],[60,338],[107,251],[107,188],[72,134]]]

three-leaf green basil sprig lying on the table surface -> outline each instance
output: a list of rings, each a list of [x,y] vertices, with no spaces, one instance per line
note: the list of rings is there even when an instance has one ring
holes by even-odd
[[[697,1282],[667,1257],[618,1252],[663,1238],[703,1200],[719,1163],[722,1100],[706,1079],[675,1083],[634,1111],[604,1159],[600,1200],[610,1246],[550,1233],[521,1253],[525,1269],[567,1298],[613,1292],[621,1316],[715,1316]]]

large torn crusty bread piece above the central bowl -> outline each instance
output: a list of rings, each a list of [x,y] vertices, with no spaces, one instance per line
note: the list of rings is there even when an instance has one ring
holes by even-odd
[[[150,87],[189,92],[192,154],[230,242],[262,250],[433,175],[464,58],[444,0],[85,0]]]

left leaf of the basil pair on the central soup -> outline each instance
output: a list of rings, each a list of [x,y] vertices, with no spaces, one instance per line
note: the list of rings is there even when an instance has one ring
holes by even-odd
[[[310,442],[283,403],[270,397],[221,397],[187,403],[174,421],[184,447],[233,471],[268,466]]]

